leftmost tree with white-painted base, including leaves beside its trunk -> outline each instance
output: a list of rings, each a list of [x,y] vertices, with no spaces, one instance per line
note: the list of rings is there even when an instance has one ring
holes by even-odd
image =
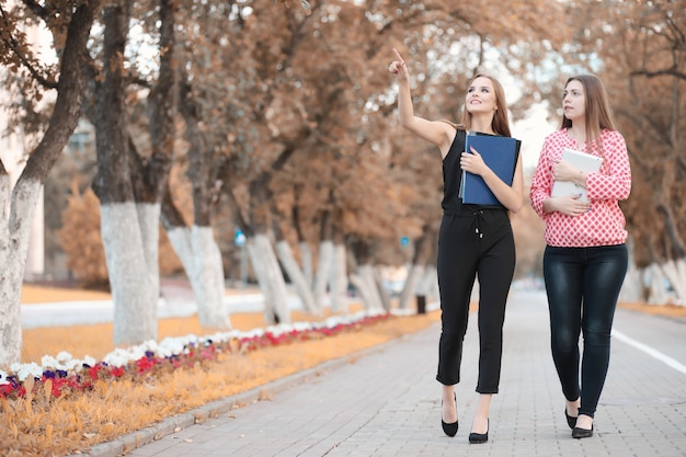
[[[21,359],[20,297],[24,276],[28,229],[36,198],[50,169],[79,121],[84,79],[87,44],[100,1],[31,1],[13,9],[1,5],[0,61],[11,72],[25,77],[22,89],[34,95],[55,90],[57,98],[43,137],[26,160],[12,188],[0,161],[0,365]],[[59,61],[55,67],[41,65],[31,52],[23,26],[44,24],[50,31]],[[36,99],[33,99],[36,100]],[[9,209],[9,212],[8,212]]]

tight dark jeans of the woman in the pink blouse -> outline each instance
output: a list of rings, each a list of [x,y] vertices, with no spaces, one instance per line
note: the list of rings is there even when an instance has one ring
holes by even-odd
[[[544,278],[550,310],[552,359],[569,401],[581,396],[580,414],[593,418],[609,366],[613,319],[627,274],[625,244],[547,247]],[[583,332],[581,387],[579,335]]]

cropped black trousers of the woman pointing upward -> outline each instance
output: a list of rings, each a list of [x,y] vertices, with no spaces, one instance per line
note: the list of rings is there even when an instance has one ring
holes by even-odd
[[[469,300],[479,278],[479,380],[477,392],[498,393],[505,302],[515,267],[515,244],[504,209],[443,216],[438,236],[441,341],[438,382],[460,381]]]

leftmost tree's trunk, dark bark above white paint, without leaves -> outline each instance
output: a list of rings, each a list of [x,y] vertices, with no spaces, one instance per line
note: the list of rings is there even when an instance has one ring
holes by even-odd
[[[79,121],[83,93],[81,70],[100,3],[93,0],[80,3],[72,10],[61,47],[60,77],[53,114],[43,139],[26,161],[13,191],[4,164],[0,161],[0,366],[21,362],[21,289],[30,224],[43,182]]]

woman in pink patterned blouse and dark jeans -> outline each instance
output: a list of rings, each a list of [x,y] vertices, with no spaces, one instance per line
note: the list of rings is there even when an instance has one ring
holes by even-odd
[[[559,130],[546,137],[531,182],[534,210],[546,222],[544,278],[550,311],[552,358],[567,399],[564,415],[574,438],[593,435],[593,418],[609,365],[613,318],[627,273],[625,217],[618,202],[631,191],[625,139],[615,129],[603,82],[570,78]],[[565,148],[603,159],[598,172],[562,161]],[[551,197],[556,181],[587,192]],[[579,336],[583,332],[581,357]]]

